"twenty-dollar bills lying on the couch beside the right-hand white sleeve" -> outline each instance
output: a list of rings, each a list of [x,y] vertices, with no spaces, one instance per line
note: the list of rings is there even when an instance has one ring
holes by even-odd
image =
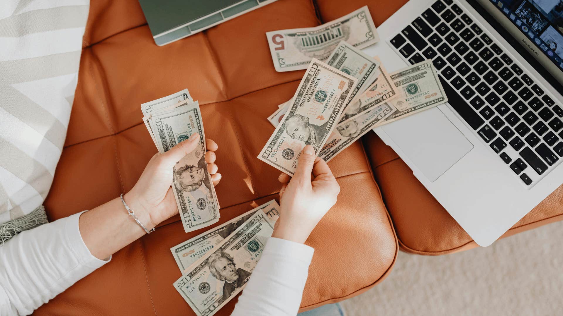
[[[198,316],[211,316],[246,286],[280,206],[275,200],[170,249],[182,277],[176,290]]]

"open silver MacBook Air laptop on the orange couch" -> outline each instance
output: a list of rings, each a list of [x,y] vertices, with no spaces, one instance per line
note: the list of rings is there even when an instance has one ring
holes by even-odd
[[[363,49],[449,102],[374,129],[481,246],[563,183],[563,2],[410,0]]]

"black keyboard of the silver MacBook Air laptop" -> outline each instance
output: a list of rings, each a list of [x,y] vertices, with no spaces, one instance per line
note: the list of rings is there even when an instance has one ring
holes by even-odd
[[[470,13],[437,0],[390,40],[410,64],[431,59],[449,104],[526,187],[563,157],[563,109]]]

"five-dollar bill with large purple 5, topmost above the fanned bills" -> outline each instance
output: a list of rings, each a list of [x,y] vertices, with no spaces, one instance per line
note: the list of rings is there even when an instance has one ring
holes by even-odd
[[[341,40],[361,49],[379,41],[368,6],[314,28],[266,32],[276,71],[307,69],[316,58],[327,60]]]

